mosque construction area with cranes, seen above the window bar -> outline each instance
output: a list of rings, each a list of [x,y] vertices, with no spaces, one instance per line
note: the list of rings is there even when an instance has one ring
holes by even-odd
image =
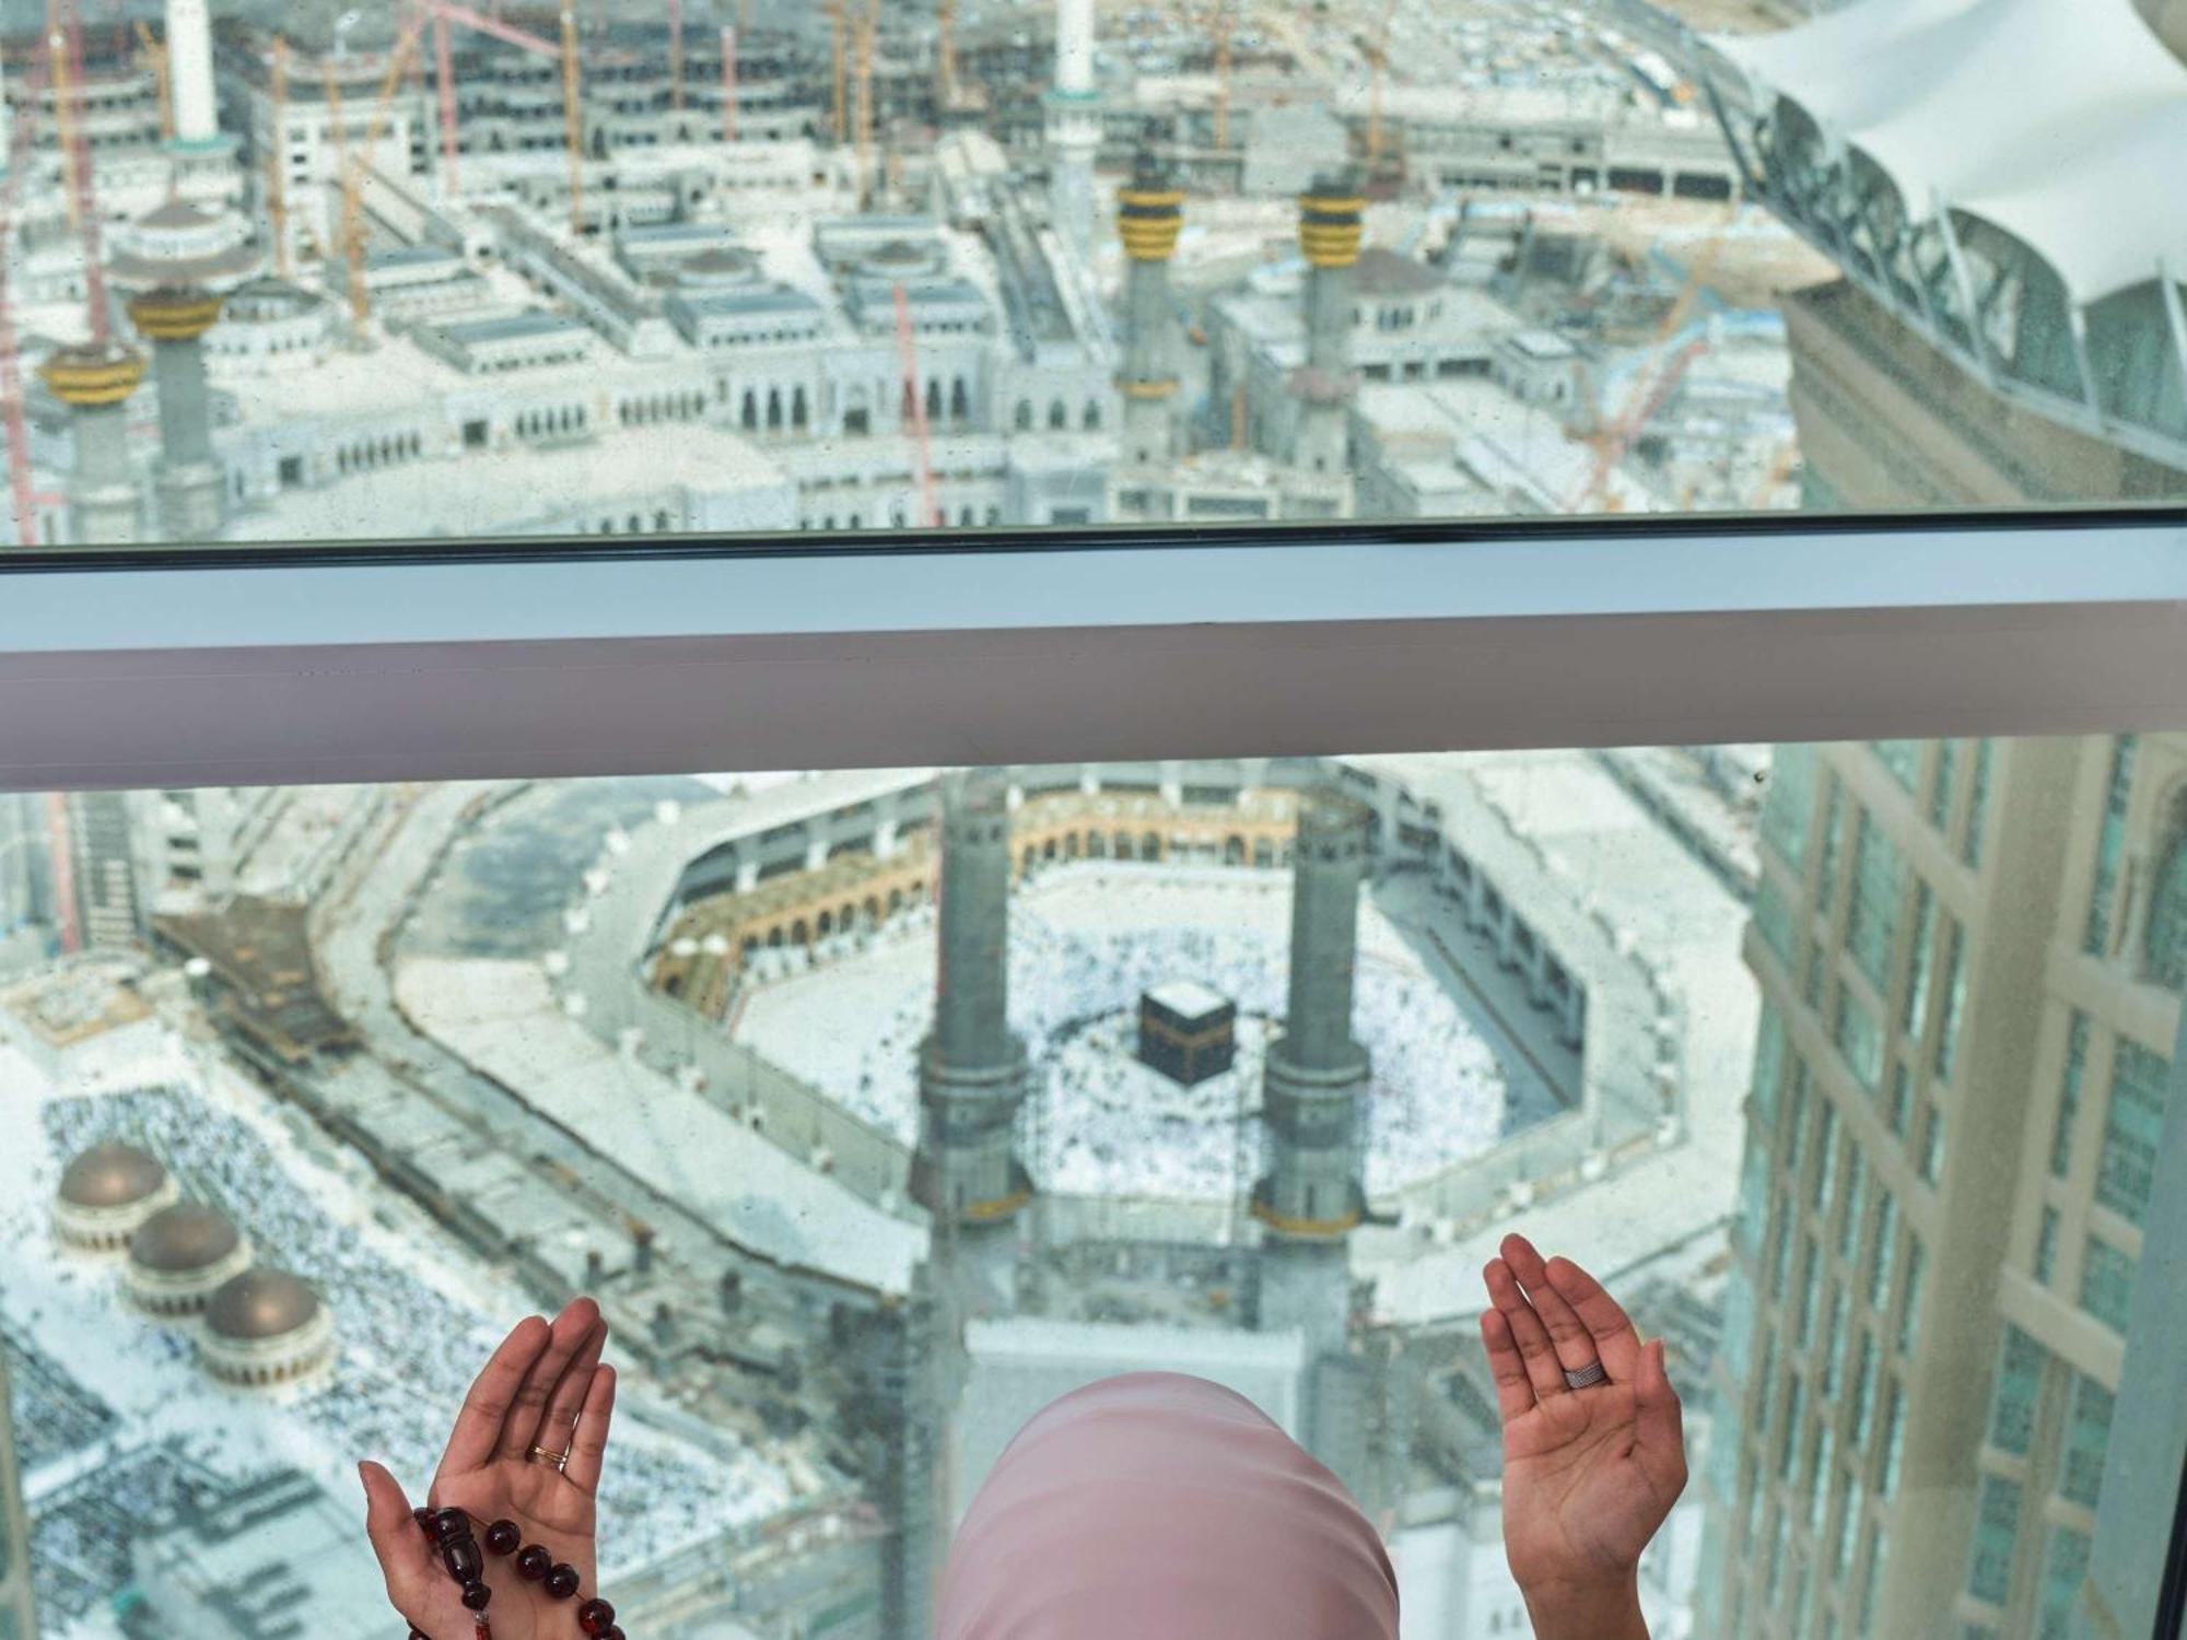
[[[4,46],[22,544],[1798,501],[1828,265],[1610,13],[81,11]]]

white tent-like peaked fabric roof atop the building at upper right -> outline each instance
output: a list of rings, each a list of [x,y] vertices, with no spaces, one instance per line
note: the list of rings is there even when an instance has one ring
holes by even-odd
[[[1855,0],[1710,44],[1872,157],[1911,216],[1995,221],[2075,302],[2187,267],[2187,63],[2128,0]]]

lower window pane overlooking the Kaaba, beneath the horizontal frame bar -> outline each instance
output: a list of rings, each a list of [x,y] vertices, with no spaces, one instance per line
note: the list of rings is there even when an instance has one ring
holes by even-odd
[[[1767,798],[1695,781],[1664,816],[1575,750],[0,798],[0,1362],[39,1620],[142,1598],[225,1631],[282,1563],[339,1627],[372,1572],[328,1476],[370,1452],[422,1491],[420,1406],[590,1290],[632,1631],[772,1555],[748,1616],[923,1633],[901,1533],[940,1563],[1045,1397],[1153,1367],[1325,1454],[1408,1620],[1465,1640],[1454,1614],[1520,1603],[1494,1522],[1459,1555],[1437,1513],[1500,1476],[1454,1340],[1520,1225],[1671,1345],[1695,1483],[1645,1572],[1662,1631],[2040,1633],[2106,1563],[2106,1454],[2148,1439],[2121,1371],[2176,1303],[2135,1279],[2174,1260],[2165,993],[2084,958],[2071,870],[2110,741],[1997,741],[1975,870],[1874,748],[1798,761],[1809,809],[1815,781],[1874,798],[1839,803],[1839,923],[1820,837],[1813,879],[1763,844],[1800,975],[1693,844],[1758,840]],[[2187,739],[2137,741],[2121,859],[2161,855],[2183,778]],[[1927,977],[1857,951],[1876,837]],[[2124,927],[2154,892],[2121,870]],[[1290,1054],[1330,1061],[1338,1115],[1299,1113]],[[991,1087],[1006,1120],[960,1122]],[[182,1286],[129,1251],[168,1194],[234,1233]],[[1293,1284],[1295,1242],[1341,1279]],[[302,1284],[262,1340],[214,1325],[241,1264]],[[234,1548],[184,1487],[245,1489]]]

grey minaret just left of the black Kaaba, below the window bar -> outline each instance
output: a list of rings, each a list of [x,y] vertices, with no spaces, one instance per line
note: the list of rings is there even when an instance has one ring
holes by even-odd
[[[919,1047],[912,1190],[945,1233],[978,1238],[1032,1198],[1013,1137],[1026,1045],[1008,1021],[1010,800],[993,770],[940,781],[934,1032]]]

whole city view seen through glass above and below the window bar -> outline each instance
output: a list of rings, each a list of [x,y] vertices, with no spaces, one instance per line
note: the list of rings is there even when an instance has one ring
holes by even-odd
[[[7,549],[2187,496],[2187,0],[4,0],[0,83]],[[2183,783],[0,792],[0,1640],[389,1633],[354,1463],[580,1292],[634,1633],[927,1640],[1168,1367],[1520,1636],[1509,1229],[1666,1340],[1658,1640],[2080,1640]]]

